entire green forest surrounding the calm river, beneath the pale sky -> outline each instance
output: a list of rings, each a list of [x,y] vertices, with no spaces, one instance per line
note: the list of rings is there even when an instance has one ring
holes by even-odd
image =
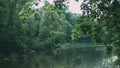
[[[105,56],[117,56],[113,64],[120,65],[120,0],[83,0],[82,14],[69,11],[69,0],[43,0],[35,8],[38,1],[0,0],[0,60],[92,43],[104,45]]]

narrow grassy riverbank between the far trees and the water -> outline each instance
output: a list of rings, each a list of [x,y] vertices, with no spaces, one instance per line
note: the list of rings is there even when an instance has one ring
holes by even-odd
[[[36,48],[36,49],[27,49],[26,51],[23,51],[22,53],[11,53],[11,54],[0,54],[0,60],[15,60],[19,58],[24,58],[25,54],[29,53],[56,53],[57,50],[66,50],[66,49],[76,49],[76,48],[95,48],[97,47],[99,50],[99,47],[104,47],[104,45],[97,43],[63,43],[58,44],[54,48]]]

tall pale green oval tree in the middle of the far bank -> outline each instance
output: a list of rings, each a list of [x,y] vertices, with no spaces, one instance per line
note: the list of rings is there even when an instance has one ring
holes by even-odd
[[[44,7],[43,16],[40,22],[39,37],[43,46],[54,47],[64,43],[67,37],[67,28],[70,26],[65,16],[53,5]]]

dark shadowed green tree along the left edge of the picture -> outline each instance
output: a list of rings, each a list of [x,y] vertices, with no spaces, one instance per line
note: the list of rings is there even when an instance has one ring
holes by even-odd
[[[23,52],[26,36],[19,12],[25,2],[27,0],[0,0],[0,54],[3,57]]]

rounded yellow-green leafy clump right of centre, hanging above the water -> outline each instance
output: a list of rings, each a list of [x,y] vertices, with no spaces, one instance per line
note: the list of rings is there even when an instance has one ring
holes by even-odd
[[[95,35],[92,33],[92,30],[94,30],[95,24],[96,23],[92,18],[88,18],[87,16],[79,17],[72,30],[72,40],[79,42],[92,42],[91,37]]]

